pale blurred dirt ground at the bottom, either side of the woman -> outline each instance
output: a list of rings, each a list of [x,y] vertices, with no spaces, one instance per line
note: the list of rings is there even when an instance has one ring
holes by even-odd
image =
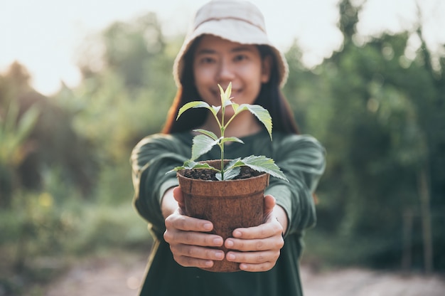
[[[47,296],[136,296],[146,258],[126,255],[78,263],[48,287]],[[301,267],[306,296],[444,296],[445,277],[348,268],[315,272]]]

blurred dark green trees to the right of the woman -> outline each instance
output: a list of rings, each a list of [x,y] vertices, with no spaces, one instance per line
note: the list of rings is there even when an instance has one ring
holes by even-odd
[[[348,258],[355,255],[355,264],[397,267],[406,248],[413,253],[426,248],[422,218],[444,231],[445,126],[439,120],[445,117],[444,68],[439,75],[432,70],[424,47],[412,60],[404,56],[410,33],[382,34],[360,46],[352,42],[354,33],[343,33],[350,38],[345,38],[342,51],[314,70],[315,85],[322,87],[313,92],[313,100],[323,103],[299,106],[309,114],[318,112],[318,122],[306,116],[304,125],[328,151],[316,231],[341,238],[329,239],[330,247],[338,250],[330,256],[337,261],[351,263]],[[424,170],[430,214],[420,207]],[[407,230],[407,211],[415,213],[416,228]],[[412,236],[408,246],[403,241],[407,232]],[[444,240],[434,231],[431,243],[434,268],[443,270],[437,251],[445,248]],[[352,253],[341,251],[345,245],[354,246]],[[422,268],[425,260],[413,255],[412,264]]]

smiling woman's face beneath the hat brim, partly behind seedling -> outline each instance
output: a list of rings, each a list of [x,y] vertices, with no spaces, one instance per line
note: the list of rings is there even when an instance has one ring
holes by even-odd
[[[193,56],[195,86],[205,102],[219,106],[218,84],[225,90],[231,82],[233,101],[252,104],[262,83],[269,81],[270,63],[270,58],[262,60],[257,46],[205,35]]]

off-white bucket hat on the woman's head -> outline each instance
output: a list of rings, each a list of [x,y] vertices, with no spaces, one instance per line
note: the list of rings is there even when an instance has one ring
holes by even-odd
[[[266,45],[272,49],[279,73],[279,84],[286,83],[289,72],[286,58],[267,38],[264,16],[249,1],[213,0],[202,6],[195,14],[193,26],[186,36],[173,64],[173,78],[181,85],[184,56],[198,36],[211,34],[228,41],[242,44]]]

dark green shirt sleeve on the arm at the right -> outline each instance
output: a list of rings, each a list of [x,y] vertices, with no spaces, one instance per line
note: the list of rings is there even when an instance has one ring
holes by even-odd
[[[286,211],[289,223],[286,236],[301,233],[316,223],[313,193],[326,166],[326,151],[308,135],[274,139],[274,161],[289,182],[271,177],[266,194],[277,199]]]

